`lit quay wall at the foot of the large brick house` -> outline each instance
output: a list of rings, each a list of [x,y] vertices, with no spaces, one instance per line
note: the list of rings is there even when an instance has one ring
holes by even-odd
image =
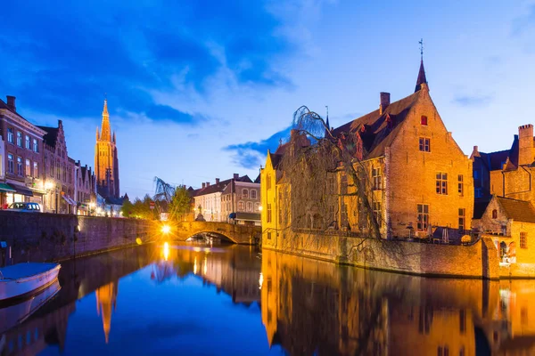
[[[374,270],[499,279],[498,251],[488,238],[479,239],[471,246],[450,246],[302,231],[285,235],[279,234],[271,240],[264,238],[262,248]]]

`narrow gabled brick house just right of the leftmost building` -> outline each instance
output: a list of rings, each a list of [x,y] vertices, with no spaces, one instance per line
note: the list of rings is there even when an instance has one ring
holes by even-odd
[[[75,162],[69,158],[63,122],[58,120],[57,127],[39,126],[45,131],[43,140],[43,174],[47,194],[44,211],[58,214],[75,214]]]

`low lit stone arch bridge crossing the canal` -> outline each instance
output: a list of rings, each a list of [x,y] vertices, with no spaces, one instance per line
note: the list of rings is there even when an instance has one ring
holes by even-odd
[[[185,241],[202,232],[217,234],[235,244],[241,245],[256,245],[262,238],[262,228],[260,226],[214,222],[177,223],[176,226],[173,226],[171,235],[177,240]]]

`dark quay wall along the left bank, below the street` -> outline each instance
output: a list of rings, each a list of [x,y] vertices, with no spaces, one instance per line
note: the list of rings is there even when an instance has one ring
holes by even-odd
[[[154,227],[139,219],[0,211],[0,263],[59,261],[148,242]],[[10,256],[11,254],[11,256]]]

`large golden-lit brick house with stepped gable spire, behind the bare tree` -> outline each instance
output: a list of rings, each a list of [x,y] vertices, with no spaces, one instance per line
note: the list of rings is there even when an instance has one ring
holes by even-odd
[[[368,182],[372,182],[373,209],[383,237],[406,238],[410,233],[424,238],[432,227],[460,231],[470,227],[472,161],[458,147],[432,102],[423,61],[415,93],[394,102],[390,93],[381,93],[379,109],[334,128],[332,133],[335,137],[352,134],[356,138],[358,158],[366,168]],[[283,215],[274,210],[282,194],[276,190],[283,188],[275,181],[278,176],[274,157],[268,154],[262,170],[263,227],[270,220],[269,226],[275,228],[274,223]],[[350,177],[338,174],[333,196],[340,196],[351,186]],[[368,227],[358,216],[357,198],[337,200],[333,203],[337,205],[333,206],[337,227],[366,234]],[[277,207],[286,208],[280,204]]]

